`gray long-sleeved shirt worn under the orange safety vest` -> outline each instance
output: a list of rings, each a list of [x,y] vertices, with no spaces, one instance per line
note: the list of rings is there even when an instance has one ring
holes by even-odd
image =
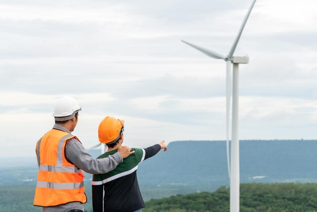
[[[65,127],[55,124],[53,129],[62,130],[70,133]],[[110,158],[94,159],[85,151],[83,145],[78,140],[72,138],[67,140],[65,145],[65,157],[73,163],[77,168],[91,174],[102,174],[112,171],[118,164],[123,162],[120,153],[111,155]],[[39,165],[39,161],[37,161]],[[81,202],[69,202],[52,207],[42,207],[42,212],[67,212],[71,209],[80,209],[84,211],[84,204]]]

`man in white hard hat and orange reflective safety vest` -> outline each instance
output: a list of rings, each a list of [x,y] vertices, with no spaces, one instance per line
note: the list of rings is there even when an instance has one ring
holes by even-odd
[[[55,125],[36,143],[38,163],[34,205],[43,212],[84,211],[87,197],[83,171],[106,173],[133,154],[129,147],[120,147],[117,154],[93,159],[80,140],[72,135],[78,122],[78,102],[63,96],[54,106]]]

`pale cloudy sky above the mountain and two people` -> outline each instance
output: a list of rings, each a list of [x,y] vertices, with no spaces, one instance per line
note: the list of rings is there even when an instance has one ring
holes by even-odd
[[[0,0],[0,157],[34,156],[63,95],[73,131],[99,143],[105,116],[125,144],[225,139],[225,62],[251,0]],[[258,0],[236,56],[240,139],[317,139],[317,2]],[[225,154],[225,150],[224,150]]]

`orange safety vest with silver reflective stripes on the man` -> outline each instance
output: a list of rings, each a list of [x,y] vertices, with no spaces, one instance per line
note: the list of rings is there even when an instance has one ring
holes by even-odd
[[[65,158],[65,145],[75,136],[51,129],[36,144],[39,162],[34,205],[56,206],[67,202],[87,202],[84,173]],[[80,142],[78,140],[78,142]]]

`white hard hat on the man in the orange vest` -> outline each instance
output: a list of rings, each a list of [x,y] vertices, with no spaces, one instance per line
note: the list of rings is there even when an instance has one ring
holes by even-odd
[[[66,121],[72,119],[75,113],[81,110],[76,99],[71,96],[63,96],[55,103],[53,116],[56,121]]]

